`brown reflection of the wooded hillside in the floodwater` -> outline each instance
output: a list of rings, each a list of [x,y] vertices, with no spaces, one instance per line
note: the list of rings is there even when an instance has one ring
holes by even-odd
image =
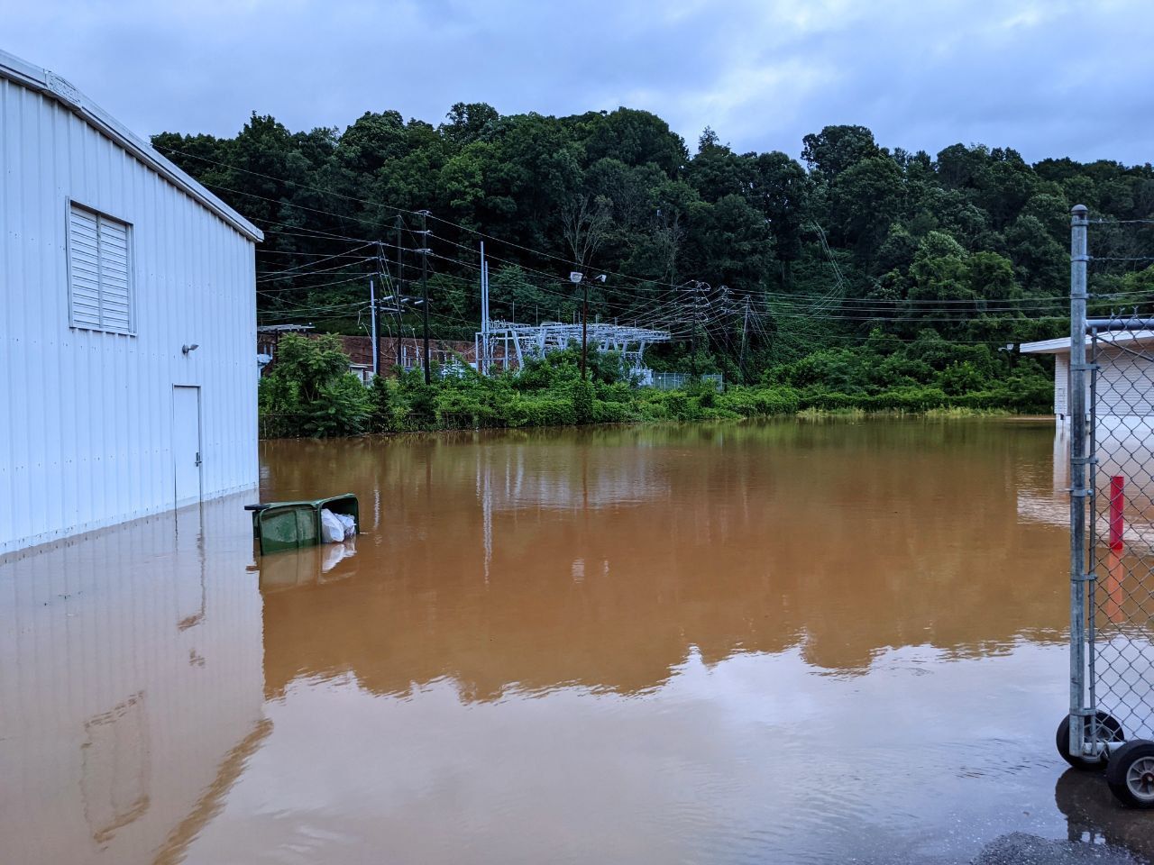
[[[1051,436],[789,422],[268,443],[276,497],[335,491],[323,480],[362,516],[384,504],[334,571],[346,579],[265,592],[265,686],[352,671],[385,693],[443,676],[477,699],[514,684],[632,693],[691,647],[713,663],[801,646],[854,671],[891,646],[960,657],[1058,639],[1064,548],[1018,524],[1014,496],[1024,472],[1049,483]],[[538,476],[594,494],[559,509]],[[265,588],[310,579],[262,573]]]

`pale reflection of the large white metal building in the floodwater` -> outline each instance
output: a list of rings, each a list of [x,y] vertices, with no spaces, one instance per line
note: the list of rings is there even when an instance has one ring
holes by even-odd
[[[268,732],[235,499],[0,562],[3,859],[177,862]]]

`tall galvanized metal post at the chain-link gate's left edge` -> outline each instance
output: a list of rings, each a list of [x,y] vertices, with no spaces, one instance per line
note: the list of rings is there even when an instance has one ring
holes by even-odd
[[[1086,205],[1070,219],[1070,753],[1086,742]]]

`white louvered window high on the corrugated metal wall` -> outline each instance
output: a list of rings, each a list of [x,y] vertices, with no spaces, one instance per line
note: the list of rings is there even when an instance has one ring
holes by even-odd
[[[73,328],[132,333],[132,226],[73,204],[68,211],[68,318]]]

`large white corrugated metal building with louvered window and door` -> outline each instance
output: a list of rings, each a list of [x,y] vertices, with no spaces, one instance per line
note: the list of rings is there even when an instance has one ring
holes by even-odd
[[[0,554],[255,486],[261,240],[0,52]]]

